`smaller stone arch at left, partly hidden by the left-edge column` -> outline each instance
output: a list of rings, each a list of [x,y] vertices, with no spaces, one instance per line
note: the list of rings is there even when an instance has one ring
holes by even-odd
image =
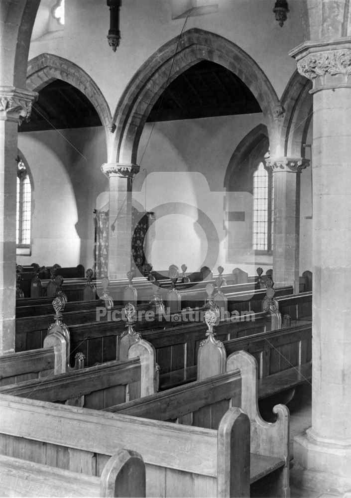
[[[73,62],[53,54],[43,53],[28,62],[28,90],[39,92],[56,79],[70,83],[90,100],[108,133],[111,111],[100,88],[88,73]]]

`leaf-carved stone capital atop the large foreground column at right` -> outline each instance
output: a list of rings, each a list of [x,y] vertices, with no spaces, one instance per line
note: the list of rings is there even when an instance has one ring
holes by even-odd
[[[297,70],[313,83],[310,93],[351,88],[351,42],[329,44],[306,42],[289,53],[297,60]]]

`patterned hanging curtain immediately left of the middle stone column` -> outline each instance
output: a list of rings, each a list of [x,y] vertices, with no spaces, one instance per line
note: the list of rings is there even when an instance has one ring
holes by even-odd
[[[108,276],[109,212],[100,211],[95,216],[95,275]]]

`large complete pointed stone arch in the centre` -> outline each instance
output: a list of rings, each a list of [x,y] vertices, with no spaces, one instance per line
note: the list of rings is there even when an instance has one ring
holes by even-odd
[[[251,90],[267,123],[273,127],[272,110],[279,101],[257,63],[232,41],[215,33],[192,28],[167,42],[149,57],[127,85],[114,114],[116,136],[111,160],[136,162],[143,126],[165,86],[203,60],[221,64],[236,74]]]

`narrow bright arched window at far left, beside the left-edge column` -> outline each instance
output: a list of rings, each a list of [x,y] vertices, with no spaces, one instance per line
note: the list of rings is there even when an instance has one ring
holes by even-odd
[[[29,254],[32,218],[32,183],[23,159],[17,157],[16,246],[19,254]]]

